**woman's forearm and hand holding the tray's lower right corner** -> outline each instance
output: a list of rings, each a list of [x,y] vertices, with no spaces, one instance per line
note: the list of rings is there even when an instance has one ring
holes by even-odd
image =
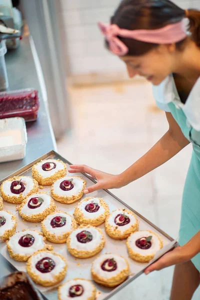
[[[148,273],[161,270],[164,267],[186,262],[190,260],[193,256],[200,252],[200,231],[198,231],[184,246],[176,247],[175,249],[167,252],[157,261],[149,265],[144,273]]]

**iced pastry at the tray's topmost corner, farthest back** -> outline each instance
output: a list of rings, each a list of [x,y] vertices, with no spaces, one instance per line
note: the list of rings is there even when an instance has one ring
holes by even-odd
[[[41,185],[51,185],[66,175],[66,164],[59,159],[45,159],[32,166],[32,177]]]

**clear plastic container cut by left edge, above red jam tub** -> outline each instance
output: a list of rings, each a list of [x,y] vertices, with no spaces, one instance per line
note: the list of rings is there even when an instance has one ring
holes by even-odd
[[[0,41],[0,90],[8,87],[7,70],[5,65],[5,53],[7,48],[5,40]]]

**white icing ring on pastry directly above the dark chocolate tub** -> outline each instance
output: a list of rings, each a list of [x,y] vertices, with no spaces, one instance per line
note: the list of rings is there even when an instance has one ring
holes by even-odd
[[[29,247],[22,247],[18,243],[21,236],[23,236],[25,234],[31,234],[34,237],[34,242]],[[43,241],[43,236],[33,230],[25,230],[25,231],[16,232],[9,239],[8,244],[10,245],[12,252],[14,254],[20,254],[20,255],[31,255],[32,253],[34,253],[38,250],[41,250],[45,245],[45,243]]]

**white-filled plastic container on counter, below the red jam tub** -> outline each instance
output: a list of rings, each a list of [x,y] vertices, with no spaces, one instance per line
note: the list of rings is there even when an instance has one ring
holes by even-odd
[[[0,119],[0,162],[25,157],[27,133],[22,117]]]

